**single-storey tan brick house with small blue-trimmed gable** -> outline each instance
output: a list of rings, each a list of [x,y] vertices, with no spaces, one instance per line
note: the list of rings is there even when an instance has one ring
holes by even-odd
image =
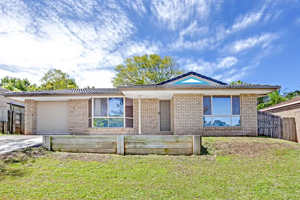
[[[26,134],[257,135],[256,98],[278,85],[188,72],[157,84],[5,93],[25,101]]]

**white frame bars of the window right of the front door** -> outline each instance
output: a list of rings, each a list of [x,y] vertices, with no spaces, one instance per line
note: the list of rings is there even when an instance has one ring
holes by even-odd
[[[210,96],[210,104],[211,104],[211,114],[207,115],[204,114],[204,102],[203,102],[203,127],[241,127],[241,103],[240,103],[240,95],[203,95],[204,96]],[[212,102],[212,97],[229,97],[230,96],[230,115],[225,115],[225,114],[213,114],[213,102]],[[239,114],[232,114],[232,96],[238,96],[239,97]],[[205,126],[204,125],[204,117],[211,117],[211,126]],[[213,117],[221,117],[221,116],[228,116],[230,117],[230,122],[231,124],[229,126],[213,126]],[[232,117],[233,116],[239,116],[239,126],[234,126],[232,125]]]

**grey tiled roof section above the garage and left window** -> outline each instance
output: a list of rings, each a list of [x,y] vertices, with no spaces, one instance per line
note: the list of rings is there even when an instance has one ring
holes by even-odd
[[[9,92],[3,95],[49,95],[49,94],[120,94],[117,88],[86,88],[86,89],[58,89],[58,90],[38,90],[38,91],[18,91]]]

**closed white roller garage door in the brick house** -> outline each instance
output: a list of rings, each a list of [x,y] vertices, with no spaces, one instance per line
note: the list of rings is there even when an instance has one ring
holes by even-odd
[[[69,134],[69,101],[36,102],[36,134]]]

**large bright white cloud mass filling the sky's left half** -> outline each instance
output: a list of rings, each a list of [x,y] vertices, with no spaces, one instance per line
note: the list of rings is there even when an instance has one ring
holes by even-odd
[[[24,77],[38,83],[43,72],[58,68],[81,87],[111,87],[106,77],[113,75],[107,68],[132,54],[161,50],[160,41],[133,37],[136,27],[115,0],[7,0],[1,4],[1,76],[12,75],[7,67],[18,66],[19,77],[26,74]],[[132,7],[145,11],[141,1]]]

